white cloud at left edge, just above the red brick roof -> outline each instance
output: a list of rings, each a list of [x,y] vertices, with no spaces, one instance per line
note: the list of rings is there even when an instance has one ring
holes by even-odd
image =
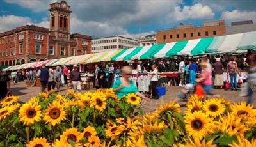
[[[15,27],[24,26],[26,22],[31,22],[29,17],[20,17],[15,15],[0,16],[0,32],[15,29]]]

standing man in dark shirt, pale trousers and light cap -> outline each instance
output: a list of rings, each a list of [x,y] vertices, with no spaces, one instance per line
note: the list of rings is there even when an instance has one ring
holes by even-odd
[[[80,73],[78,72],[78,66],[74,65],[73,66],[73,70],[70,73],[70,79],[72,81],[72,86],[73,86],[73,90],[74,92],[81,91],[81,76]]]

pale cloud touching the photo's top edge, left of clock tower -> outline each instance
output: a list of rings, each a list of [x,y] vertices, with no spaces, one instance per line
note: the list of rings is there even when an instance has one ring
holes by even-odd
[[[6,3],[18,4],[23,8],[33,10],[33,12],[47,11],[49,8],[49,0],[5,0]]]

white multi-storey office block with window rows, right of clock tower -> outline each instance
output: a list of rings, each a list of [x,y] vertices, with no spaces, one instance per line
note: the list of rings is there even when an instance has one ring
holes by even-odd
[[[138,46],[138,40],[123,36],[109,36],[92,40],[92,53],[106,50],[129,49]]]

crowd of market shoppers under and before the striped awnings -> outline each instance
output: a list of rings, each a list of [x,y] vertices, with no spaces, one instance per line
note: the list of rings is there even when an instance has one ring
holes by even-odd
[[[213,88],[239,90],[237,86],[237,75],[241,75],[241,71],[248,72],[248,83],[254,83],[255,78],[253,76],[255,75],[252,76],[252,74],[255,73],[255,69],[253,70],[256,63],[255,59],[255,54],[247,58],[245,56],[239,56],[238,59],[236,56],[228,56],[228,58],[224,56],[178,57],[177,59],[124,62],[122,64],[122,70],[120,68],[121,65],[115,65],[114,67],[113,63],[95,64],[94,66],[84,65],[83,72],[93,75],[94,88],[113,87],[117,93],[119,91],[120,94],[118,97],[122,97],[122,93],[130,91],[127,90],[129,88],[131,89],[130,92],[139,92],[138,89],[132,87],[132,84],[136,87],[136,83],[128,81],[131,80],[129,77],[131,77],[132,70],[137,70],[138,73],[145,73],[150,77],[151,98],[159,98],[156,91],[160,78],[158,75],[159,72],[177,72],[179,73],[180,87],[184,87],[186,84],[196,86],[197,83],[202,83],[204,92],[210,94]],[[45,92],[46,86],[48,91],[51,89],[60,91],[61,85],[70,86],[74,91],[81,91],[80,72],[81,70],[79,70],[79,66],[77,65],[56,67],[45,67],[45,65],[42,65],[40,68],[17,70],[8,74],[3,74],[4,72],[1,70],[2,75],[0,80],[4,81],[4,84],[2,85],[0,83],[0,86],[4,86],[4,91],[9,91],[10,79],[12,79],[13,84],[26,80],[26,82],[33,82],[33,85],[39,79],[42,92]],[[223,80],[223,72],[227,73],[227,81]],[[6,75],[9,75],[9,77]],[[225,82],[230,82],[230,88],[225,87]],[[249,85],[251,85],[249,89],[252,90],[248,90],[248,95],[252,95],[251,93],[253,93],[254,87],[252,86],[253,84]],[[4,92],[0,94],[3,98],[8,93]],[[140,96],[148,100],[147,97]],[[252,98],[248,100],[248,103],[251,103],[251,101]]]

